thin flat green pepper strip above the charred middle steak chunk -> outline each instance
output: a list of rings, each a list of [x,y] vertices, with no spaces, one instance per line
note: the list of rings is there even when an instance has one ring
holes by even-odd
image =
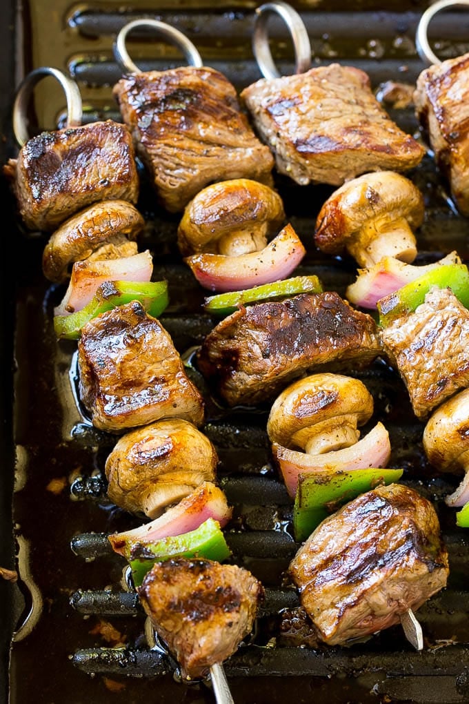
[[[291,279],[274,281],[272,284],[262,284],[262,286],[255,286],[252,289],[244,289],[244,291],[229,291],[226,294],[210,296],[205,298],[204,309],[207,313],[230,315],[245,303],[271,301],[297,294],[321,294],[322,291],[323,288],[317,276],[295,276]]]

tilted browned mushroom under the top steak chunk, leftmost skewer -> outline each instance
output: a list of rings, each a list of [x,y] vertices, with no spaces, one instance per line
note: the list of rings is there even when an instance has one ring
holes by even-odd
[[[127,201],[103,201],[80,210],[54,232],[42,255],[42,270],[49,281],[62,283],[70,277],[70,265],[87,259],[136,254],[129,240],[136,239],[145,221]]]

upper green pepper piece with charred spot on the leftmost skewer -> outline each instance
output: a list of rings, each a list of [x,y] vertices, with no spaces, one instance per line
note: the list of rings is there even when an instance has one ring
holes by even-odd
[[[131,301],[140,301],[147,313],[158,318],[169,303],[167,282],[104,281],[82,310],[70,315],[56,315],[53,319],[56,335],[59,339],[77,340],[82,327],[91,318]]]

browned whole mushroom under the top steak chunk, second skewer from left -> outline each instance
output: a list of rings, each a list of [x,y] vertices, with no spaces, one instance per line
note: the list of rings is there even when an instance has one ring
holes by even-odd
[[[179,250],[183,256],[260,251],[284,220],[283,201],[273,189],[250,179],[222,181],[207,186],[186,206]]]

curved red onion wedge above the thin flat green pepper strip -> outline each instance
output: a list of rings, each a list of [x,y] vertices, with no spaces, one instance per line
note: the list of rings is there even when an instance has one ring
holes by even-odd
[[[199,284],[209,291],[241,291],[285,279],[300,264],[306,250],[291,225],[286,225],[259,252],[224,256],[200,253],[186,257]]]

